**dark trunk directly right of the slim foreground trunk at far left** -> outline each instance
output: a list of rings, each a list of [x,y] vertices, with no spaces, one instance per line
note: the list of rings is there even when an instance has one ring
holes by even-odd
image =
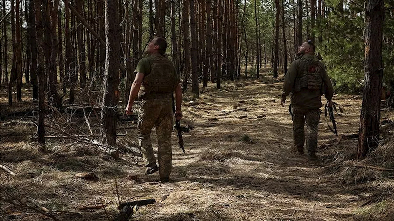
[[[48,5],[46,6],[46,19],[50,20],[50,26],[46,31],[50,32],[51,40],[52,40],[52,49],[50,55],[50,63],[48,68],[48,75],[49,75],[49,89],[50,89],[50,104],[56,107],[58,110],[61,110],[61,98],[58,94],[58,87],[57,87],[57,77],[58,77],[58,68],[56,65],[56,57],[58,55],[58,39],[56,34],[56,29],[58,28],[58,7],[59,7],[59,0],[48,0]]]

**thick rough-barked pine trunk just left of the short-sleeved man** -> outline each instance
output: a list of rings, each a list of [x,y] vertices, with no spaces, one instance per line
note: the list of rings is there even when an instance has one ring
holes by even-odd
[[[117,105],[121,57],[121,27],[117,0],[105,0],[106,62],[102,108],[103,138],[107,145],[116,144]]]

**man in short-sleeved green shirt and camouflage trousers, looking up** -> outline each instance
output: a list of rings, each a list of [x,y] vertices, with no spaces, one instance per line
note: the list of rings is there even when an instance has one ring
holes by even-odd
[[[137,136],[145,160],[145,174],[159,171],[162,182],[169,181],[171,173],[171,133],[173,131],[172,99],[175,92],[175,118],[182,118],[182,89],[175,67],[167,57],[167,42],[157,37],[149,42],[146,58],[141,59],[134,71],[136,78],[130,89],[126,115],[132,114],[132,106],[137,95],[141,99],[138,114]],[[152,128],[156,128],[158,140],[157,158],[151,143]]]

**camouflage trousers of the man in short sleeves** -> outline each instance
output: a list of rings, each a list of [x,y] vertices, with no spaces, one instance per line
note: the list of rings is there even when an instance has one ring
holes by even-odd
[[[158,94],[154,98],[141,101],[139,108],[137,137],[145,165],[156,163],[151,142],[152,128],[156,128],[160,178],[171,173],[173,131],[172,94]]]

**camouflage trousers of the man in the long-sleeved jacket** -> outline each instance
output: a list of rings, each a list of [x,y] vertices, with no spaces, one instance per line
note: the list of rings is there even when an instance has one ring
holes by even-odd
[[[318,145],[318,124],[320,121],[319,109],[308,109],[297,105],[292,105],[293,118],[293,140],[295,146],[304,146],[305,131],[304,125],[307,123],[307,149],[316,152]]]

